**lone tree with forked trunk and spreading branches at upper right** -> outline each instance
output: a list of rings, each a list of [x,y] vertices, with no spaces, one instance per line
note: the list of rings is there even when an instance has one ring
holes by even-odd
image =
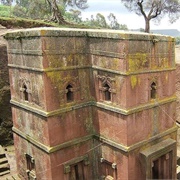
[[[160,21],[168,15],[170,22],[175,22],[180,16],[180,0],[121,0],[124,5],[145,20],[145,32],[150,32],[150,21]]]

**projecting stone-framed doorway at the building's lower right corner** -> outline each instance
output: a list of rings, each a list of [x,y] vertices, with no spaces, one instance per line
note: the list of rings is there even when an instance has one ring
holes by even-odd
[[[140,152],[144,179],[176,179],[176,140],[168,138]]]

